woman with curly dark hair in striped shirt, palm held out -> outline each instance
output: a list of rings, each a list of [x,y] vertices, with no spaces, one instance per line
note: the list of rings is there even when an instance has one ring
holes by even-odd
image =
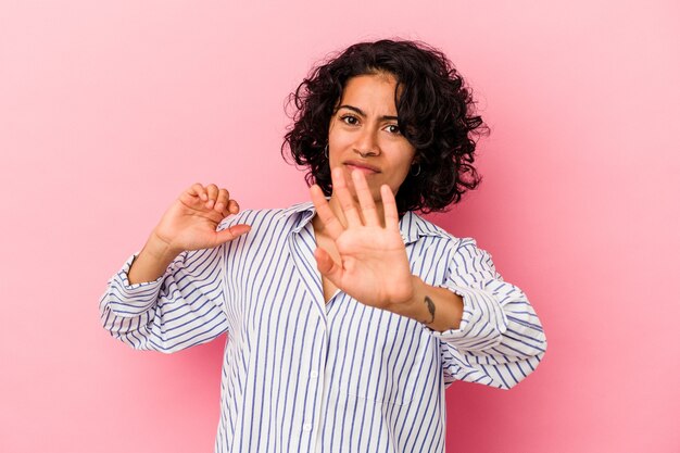
[[[240,212],[193,185],[110,280],[102,323],[163,352],[228,332],[217,452],[442,452],[445,387],[509,389],[546,345],[491,256],[414,213],[477,186],[483,123],[420,42],[352,46],[292,99],[284,150],[312,202]]]

